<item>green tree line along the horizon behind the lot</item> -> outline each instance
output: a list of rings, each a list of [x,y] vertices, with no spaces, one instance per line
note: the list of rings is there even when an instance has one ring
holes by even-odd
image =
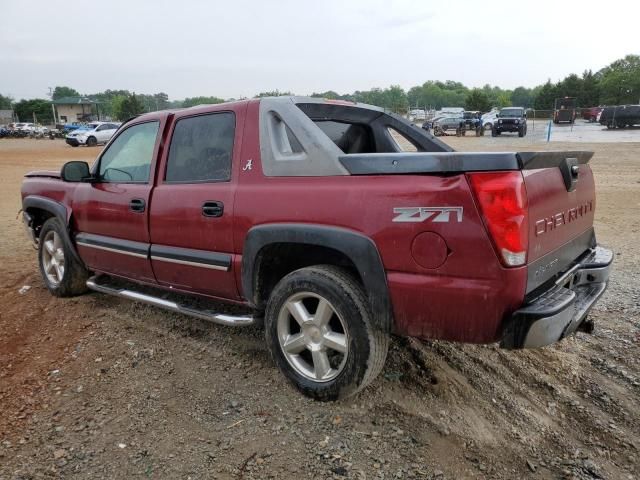
[[[260,92],[256,97],[279,95],[292,93],[274,90]],[[81,96],[77,90],[58,86],[53,90],[51,100],[77,96]],[[144,112],[226,101],[219,97],[206,96],[172,101],[164,92],[136,94],[129,90],[105,90],[82,96],[98,102],[97,108],[101,117],[118,120],[126,120]],[[519,86],[510,90],[492,85],[469,88],[452,80],[429,80],[422,85],[411,87],[408,91],[399,85],[391,85],[387,88],[357,90],[347,94],[328,90],[314,92],[311,96],[368,103],[396,113],[406,113],[412,108],[438,110],[442,107],[464,107],[467,110],[482,112],[492,107],[508,106],[551,110],[555,99],[565,96],[576,97],[580,107],[640,103],[640,55],[627,55],[597,72],[585,70],[581,75],[571,74],[556,83],[548,80],[543,85],[533,88]],[[0,94],[0,110],[13,108],[22,121],[31,121],[35,113],[39,122],[51,123],[51,100],[36,98],[14,102],[12,98]]]

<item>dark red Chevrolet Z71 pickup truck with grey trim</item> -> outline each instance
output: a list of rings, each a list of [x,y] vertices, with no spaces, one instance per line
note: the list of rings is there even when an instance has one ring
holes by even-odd
[[[286,377],[334,400],[391,333],[514,349],[590,331],[613,258],[591,156],[459,153],[377,107],[263,98],[131,119],[92,167],[27,174],[23,218],[52,294],[264,322]]]

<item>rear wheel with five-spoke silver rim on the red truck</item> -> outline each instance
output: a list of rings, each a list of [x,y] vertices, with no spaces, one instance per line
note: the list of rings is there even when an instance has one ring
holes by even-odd
[[[320,401],[348,397],[380,373],[389,336],[372,322],[367,297],[345,270],[296,270],[274,288],[265,312],[271,355],[303,394]]]

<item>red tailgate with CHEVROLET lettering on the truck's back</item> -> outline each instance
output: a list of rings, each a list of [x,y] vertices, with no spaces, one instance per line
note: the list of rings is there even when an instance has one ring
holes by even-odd
[[[527,292],[595,246],[590,152],[518,153],[529,204]]]

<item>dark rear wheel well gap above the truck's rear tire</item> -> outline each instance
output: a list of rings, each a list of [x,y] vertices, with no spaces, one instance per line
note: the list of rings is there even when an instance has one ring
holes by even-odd
[[[264,309],[271,292],[283,277],[312,265],[341,267],[363,284],[355,264],[338,250],[311,244],[273,243],[263,247],[256,257],[254,304]]]

